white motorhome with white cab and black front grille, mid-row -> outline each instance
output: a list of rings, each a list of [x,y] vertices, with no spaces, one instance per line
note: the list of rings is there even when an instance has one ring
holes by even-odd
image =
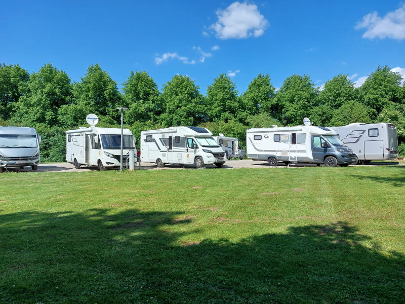
[[[196,168],[215,164],[222,168],[224,150],[210,130],[199,127],[171,127],[141,132],[141,161],[165,164],[194,164]]]

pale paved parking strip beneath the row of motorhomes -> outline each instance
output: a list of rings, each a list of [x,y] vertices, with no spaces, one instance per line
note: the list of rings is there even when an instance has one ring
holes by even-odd
[[[399,165],[405,166],[405,163],[398,162],[372,162],[370,165],[366,166],[383,166],[383,165]],[[314,167],[314,164],[290,164],[286,166],[284,163],[279,163],[277,167],[270,167],[267,162],[262,161],[227,161],[224,164],[224,169],[237,169],[237,168],[267,168],[267,169],[280,169],[280,168],[302,168],[302,167]],[[216,169],[215,165],[207,166],[208,169]],[[138,169],[138,167],[136,168]],[[182,169],[178,165],[166,165],[164,168],[157,168],[156,164],[153,163],[141,163],[142,170],[169,170],[169,169]],[[194,169],[192,165],[186,165],[185,169]],[[52,163],[52,164],[39,164],[38,170],[36,172],[92,172],[96,171],[97,167],[83,167],[80,169],[75,169],[72,164],[69,163]],[[114,168],[110,170],[119,170],[119,168]],[[31,167],[25,167],[24,169],[11,168],[8,169],[9,172],[33,172]]]

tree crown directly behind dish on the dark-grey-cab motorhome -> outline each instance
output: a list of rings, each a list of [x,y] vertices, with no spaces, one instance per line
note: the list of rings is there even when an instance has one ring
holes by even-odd
[[[318,90],[308,75],[292,75],[284,81],[275,94],[277,104],[284,107],[281,122],[284,125],[300,125],[316,105]]]

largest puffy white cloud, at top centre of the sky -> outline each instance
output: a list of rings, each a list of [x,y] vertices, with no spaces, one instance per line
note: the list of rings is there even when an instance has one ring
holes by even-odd
[[[257,6],[246,2],[234,2],[225,10],[218,9],[216,14],[218,21],[209,28],[219,39],[259,37],[269,26],[269,22],[260,14]]]

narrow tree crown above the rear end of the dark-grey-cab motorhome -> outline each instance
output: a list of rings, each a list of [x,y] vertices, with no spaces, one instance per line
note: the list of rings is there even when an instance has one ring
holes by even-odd
[[[269,74],[259,74],[249,84],[248,89],[241,96],[241,105],[244,115],[256,115],[259,111],[277,114],[279,109],[274,106],[274,87],[270,82]]]

